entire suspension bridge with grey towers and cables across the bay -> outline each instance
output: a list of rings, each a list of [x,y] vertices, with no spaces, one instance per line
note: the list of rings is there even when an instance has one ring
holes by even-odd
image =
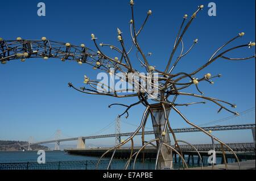
[[[251,113],[251,115],[248,115]],[[236,119],[236,124],[234,123],[234,120]],[[228,120],[231,120],[229,123]],[[238,121],[237,121],[238,120]],[[229,116],[224,119],[211,121],[209,123],[205,123],[203,125],[200,125],[201,128],[203,128],[205,131],[210,132],[219,132],[219,131],[239,131],[239,130],[251,130],[251,133],[253,134],[253,140],[254,142],[251,143],[237,143],[237,144],[230,144],[230,146],[233,147],[234,150],[237,151],[254,151],[255,152],[255,121],[248,120],[255,120],[255,108],[251,108],[249,110],[243,111],[240,113],[240,116]],[[115,124],[118,120],[113,121]],[[120,120],[119,120],[120,121]],[[239,124],[239,123],[247,123],[247,124]],[[125,123],[125,122],[123,122]],[[127,123],[128,124],[128,123]],[[215,125],[212,125],[215,124]],[[224,125],[216,125],[216,124],[224,124]],[[212,126],[209,126],[212,125]],[[135,125],[133,125],[135,127]],[[118,126],[119,127],[119,126]],[[109,127],[108,127],[109,128]],[[117,126],[116,126],[117,129]],[[102,129],[103,130],[103,129]],[[102,131],[101,130],[101,131]],[[190,132],[200,132],[197,128],[177,128],[173,130],[174,133],[190,133]],[[44,144],[55,144],[55,150],[60,150],[60,143],[61,142],[69,142],[69,141],[77,141],[77,149],[86,149],[85,142],[86,140],[95,140],[95,139],[101,139],[101,138],[116,138],[118,137],[118,141],[121,141],[121,137],[129,137],[132,136],[133,132],[127,132],[127,133],[121,133],[120,130],[115,130],[114,134],[99,134],[94,136],[80,136],[80,137],[69,137],[69,138],[60,138],[61,131],[57,131],[55,133],[55,138],[46,140],[46,141],[38,141],[33,142],[32,139],[28,141],[28,144],[26,145],[20,145],[21,148],[31,150],[31,146],[33,145],[44,145]],[[145,135],[154,135],[154,131],[146,131],[144,133]],[[142,132],[138,132],[137,136],[142,135]],[[118,143],[117,143],[118,144]],[[199,150],[204,151],[205,149],[208,149],[207,145],[197,145],[199,146]],[[188,148],[186,148],[188,149]]]

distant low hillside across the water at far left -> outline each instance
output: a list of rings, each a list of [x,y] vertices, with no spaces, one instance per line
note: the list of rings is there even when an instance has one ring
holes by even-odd
[[[1,141],[0,140],[0,151],[19,151],[23,150],[20,145],[28,145],[26,141]],[[27,148],[26,148],[27,149]],[[32,150],[48,150],[47,146],[32,145]]]

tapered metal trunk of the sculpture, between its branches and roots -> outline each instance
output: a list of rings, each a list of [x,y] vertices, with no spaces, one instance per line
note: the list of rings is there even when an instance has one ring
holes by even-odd
[[[167,117],[170,114],[170,109],[166,108]],[[155,138],[162,139],[162,133],[164,132],[164,127],[166,125],[166,119],[164,117],[164,110],[162,106],[151,108],[151,119],[154,128]],[[168,129],[166,129],[166,135],[163,137],[163,142],[171,146],[171,140]],[[159,149],[160,141],[156,143]],[[160,147],[158,168],[159,169],[171,169],[173,162],[172,150],[167,148],[167,146],[162,145]]]

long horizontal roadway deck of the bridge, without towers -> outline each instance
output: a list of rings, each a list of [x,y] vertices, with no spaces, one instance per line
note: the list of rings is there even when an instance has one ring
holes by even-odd
[[[205,131],[233,131],[233,130],[251,129],[255,133],[255,124],[222,125],[222,126],[214,126],[214,127],[203,127],[203,129]],[[200,132],[200,130],[197,128],[178,128],[178,129],[174,129],[174,132],[175,133],[188,133],[188,132]],[[133,134],[134,133],[121,133],[118,136],[127,137],[127,136],[132,136]],[[145,132],[145,135],[151,135],[151,134],[154,134],[154,131]],[[142,132],[139,132],[137,135],[138,136],[142,135]],[[85,148],[85,140],[92,140],[92,139],[98,139],[98,138],[111,138],[111,137],[115,137],[115,136],[116,136],[116,134],[105,134],[105,135],[99,135],[99,136],[74,137],[74,138],[67,138],[67,139],[34,142],[34,143],[30,143],[30,145],[23,145],[22,147],[26,148],[27,146],[43,145],[43,144],[49,144],[49,143],[55,143],[55,144],[59,145],[60,142],[78,141],[77,148],[84,149]],[[255,138],[254,138],[254,142],[255,142]]]

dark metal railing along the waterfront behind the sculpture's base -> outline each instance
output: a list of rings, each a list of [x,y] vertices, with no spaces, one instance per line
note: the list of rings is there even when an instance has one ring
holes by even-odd
[[[236,162],[233,155],[228,155],[228,163]],[[241,161],[248,161],[255,159],[255,153],[243,153],[238,154],[238,158]],[[201,167],[201,161],[199,162],[198,156],[184,157],[189,167]],[[209,166],[208,156],[202,156],[203,165]],[[154,170],[155,169],[155,159],[137,159],[135,163],[135,170]],[[47,162],[46,164],[39,164],[35,162],[26,163],[0,163],[0,170],[95,170],[98,161],[63,161],[63,162]],[[127,163],[127,159],[115,159],[110,165],[110,170],[123,170]],[[134,160],[131,160],[128,170],[133,170]],[[222,156],[217,155],[217,165],[223,164],[224,161]],[[106,170],[109,165],[109,160],[102,160],[98,165],[98,170]],[[174,169],[183,169],[183,164],[181,159],[177,157],[174,159]]]

